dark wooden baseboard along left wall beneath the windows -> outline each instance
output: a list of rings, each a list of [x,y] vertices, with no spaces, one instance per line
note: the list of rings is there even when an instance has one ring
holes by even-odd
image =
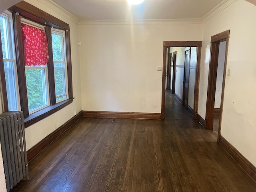
[[[76,123],[80,118],[82,118],[82,111],[80,111],[76,116],[72,117],[54,132],[46,136],[38,144],[33,146],[27,151],[28,162],[30,162],[34,157],[36,157],[42,150],[44,150],[51,142],[58,138],[62,133],[68,130],[74,123]]]

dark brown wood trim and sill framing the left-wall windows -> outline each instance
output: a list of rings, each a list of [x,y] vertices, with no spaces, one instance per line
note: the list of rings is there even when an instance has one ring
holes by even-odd
[[[51,16],[50,14],[32,6],[27,2],[20,2],[9,9],[13,13],[14,18],[14,42],[15,42],[15,52],[16,52],[16,62],[18,71],[18,84],[20,92],[20,105],[21,110],[24,112],[25,127],[31,126],[32,124],[42,120],[51,114],[57,112],[58,110],[64,108],[68,104],[73,102],[73,92],[72,92],[72,67],[71,67],[71,50],[70,50],[70,28],[65,22]],[[26,90],[26,74],[24,69],[24,54],[21,39],[21,24],[20,17],[27,18],[33,22],[42,24],[46,26],[46,36],[48,39],[48,50],[49,50],[49,63],[48,63],[48,81],[49,81],[49,94],[50,94],[50,106],[43,108],[33,114],[29,115],[28,112],[28,96]],[[52,37],[51,28],[58,28],[65,31],[66,35],[66,62],[68,71],[68,99],[56,104],[55,98],[55,82],[54,82],[54,64],[52,55]],[[1,42],[0,42],[1,43]],[[2,47],[0,51],[2,52]],[[4,112],[8,111],[8,100],[6,94],[6,83],[4,76],[4,64],[2,54],[0,54],[0,78],[2,81],[1,92],[3,97],[3,109]]]

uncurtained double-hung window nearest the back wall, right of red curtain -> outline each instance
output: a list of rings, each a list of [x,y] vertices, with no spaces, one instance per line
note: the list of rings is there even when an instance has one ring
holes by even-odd
[[[56,103],[68,98],[65,31],[52,28],[52,53]]]

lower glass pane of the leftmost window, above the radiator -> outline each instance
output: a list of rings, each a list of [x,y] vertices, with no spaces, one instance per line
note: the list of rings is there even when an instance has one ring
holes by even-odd
[[[8,98],[8,108],[10,111],[18,110],[14,62],[4,62],[4,73]]]

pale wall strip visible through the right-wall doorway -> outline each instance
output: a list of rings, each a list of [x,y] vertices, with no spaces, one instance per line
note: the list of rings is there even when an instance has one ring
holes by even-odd
[[[226,41],[220,42],[214,108],[220,108],[225,55]]]

